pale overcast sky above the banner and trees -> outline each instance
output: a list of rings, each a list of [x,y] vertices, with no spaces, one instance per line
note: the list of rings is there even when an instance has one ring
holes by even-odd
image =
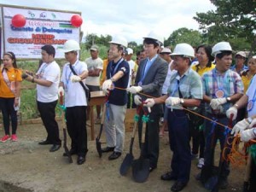
[[[36,2],[36,3],[35,3]],[[196,12],[215,9],[210,0],[1,0],[3,4],[82,12],[84,35],[122,34],[143,42],[154,30],[164,38],[181,27],[198,30]]]

